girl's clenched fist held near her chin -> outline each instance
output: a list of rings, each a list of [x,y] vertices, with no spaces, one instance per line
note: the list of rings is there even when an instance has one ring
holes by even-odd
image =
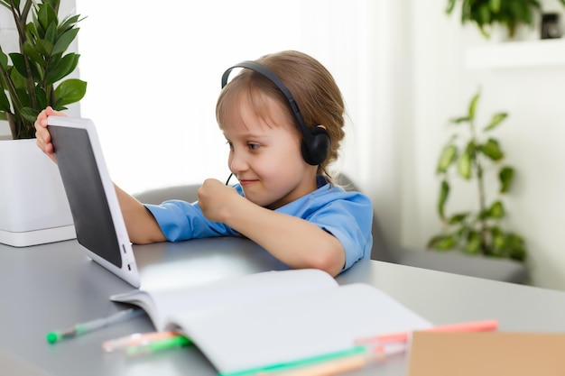
[[[213,222],[227,222],[227,218],[238,200],[236,189],[228,187],[217,179],[206,179],[198,190],[199,206],[202,214]]]

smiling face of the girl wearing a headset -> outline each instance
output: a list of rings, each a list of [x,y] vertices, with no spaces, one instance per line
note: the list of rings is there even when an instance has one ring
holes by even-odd
[[[223,126],[229,144],[229,170],[236,175],[245,197],[276,209],[316,187],[317,166],[302,159],[301,134],[281,105],[268,96],[266,116],[256,115],[246,96],[238,103],[239,114]]]

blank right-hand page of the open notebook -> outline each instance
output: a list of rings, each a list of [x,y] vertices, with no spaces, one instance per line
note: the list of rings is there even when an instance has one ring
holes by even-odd
[[[384,292],[360,283],[173,320],[220,373],[347,350],[360,337],[431,327]]]

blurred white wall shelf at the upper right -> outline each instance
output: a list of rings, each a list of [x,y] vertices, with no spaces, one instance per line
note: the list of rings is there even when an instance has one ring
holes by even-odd
[[[565,66],[565,40],[505,41],[468,47],[465,64],[468,69]]]

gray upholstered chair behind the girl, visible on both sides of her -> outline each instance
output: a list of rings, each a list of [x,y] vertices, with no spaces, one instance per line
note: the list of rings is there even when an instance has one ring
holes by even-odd
[[[337,183],[348,189],[358,190],[355,184],[340,174]],[[168,199],[181,199],[193,202],[198,199],[199,184],[151,189],[134,195],[144,204],[161,204]],[[394,262],[435,271],[447,271],[488,280],[502,280],[514,283],[526,283],[528,272],[517,261],[492,259],[481,256],[468,256],[457,252],[435,252],[428,250],[404,250],[390,246],[384,239],[379,219],[373,216],[373,250],[371,259]]]

